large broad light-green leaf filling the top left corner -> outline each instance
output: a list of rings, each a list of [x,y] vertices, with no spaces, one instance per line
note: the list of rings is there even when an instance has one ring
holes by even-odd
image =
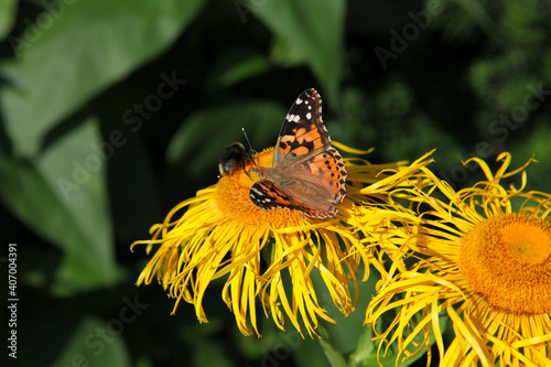
[[[0,65],[8,80],[0,89],[6,128],[24,155],[36,153],[44,133],[91,97],[164,51],[204,0],[56,3],[57,15],[42,13],[51,25],[31,24],[9,40],[17,60]]]

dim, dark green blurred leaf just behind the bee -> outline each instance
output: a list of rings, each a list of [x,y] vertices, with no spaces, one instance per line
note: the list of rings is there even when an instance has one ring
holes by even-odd
[[[224,147],[244,141],[245,128],[252,148],[273,147],[285,109],[278,102],[248,100],[199,110],[174,133],[166,154],[170,163],[187,161],[194,176],[218,162]],[[216,132],[216,133],[213,133]]]

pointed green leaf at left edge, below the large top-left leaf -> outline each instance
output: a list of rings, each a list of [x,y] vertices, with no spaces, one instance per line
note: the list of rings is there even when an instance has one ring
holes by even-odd
[[[0,156],[0,197],[21,222],[65,252],[60,293],[118,279],[100,137],[89,119],[34,160]],[[63,284],[60,285],[60,284]]]

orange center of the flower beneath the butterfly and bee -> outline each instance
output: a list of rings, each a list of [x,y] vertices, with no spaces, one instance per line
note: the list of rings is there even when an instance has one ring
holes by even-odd
[[[260,166],[271,168],[273,160],[273,148],[255,155],[257,164]],[[304,215],[296,211],[285,208],[276,208],[264,211],[249,197],[250,187],[258,180],[252,172],[253,163],[250,159],[245,162],[245,171],[242,164],[238,164],[231,174],[220,177],[216,184],[216,205],[222,214],[229,220],[234,220],[248,225],[272,225],[276,228],[289,226],[291,223],[296,223],[304,219]]]

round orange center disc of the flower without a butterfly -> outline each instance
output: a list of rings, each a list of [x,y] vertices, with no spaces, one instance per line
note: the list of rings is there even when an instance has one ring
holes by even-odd
[[[462,239],[460,270],[494,309],[551,312],[551,228],[518,214],[476,224]]]

